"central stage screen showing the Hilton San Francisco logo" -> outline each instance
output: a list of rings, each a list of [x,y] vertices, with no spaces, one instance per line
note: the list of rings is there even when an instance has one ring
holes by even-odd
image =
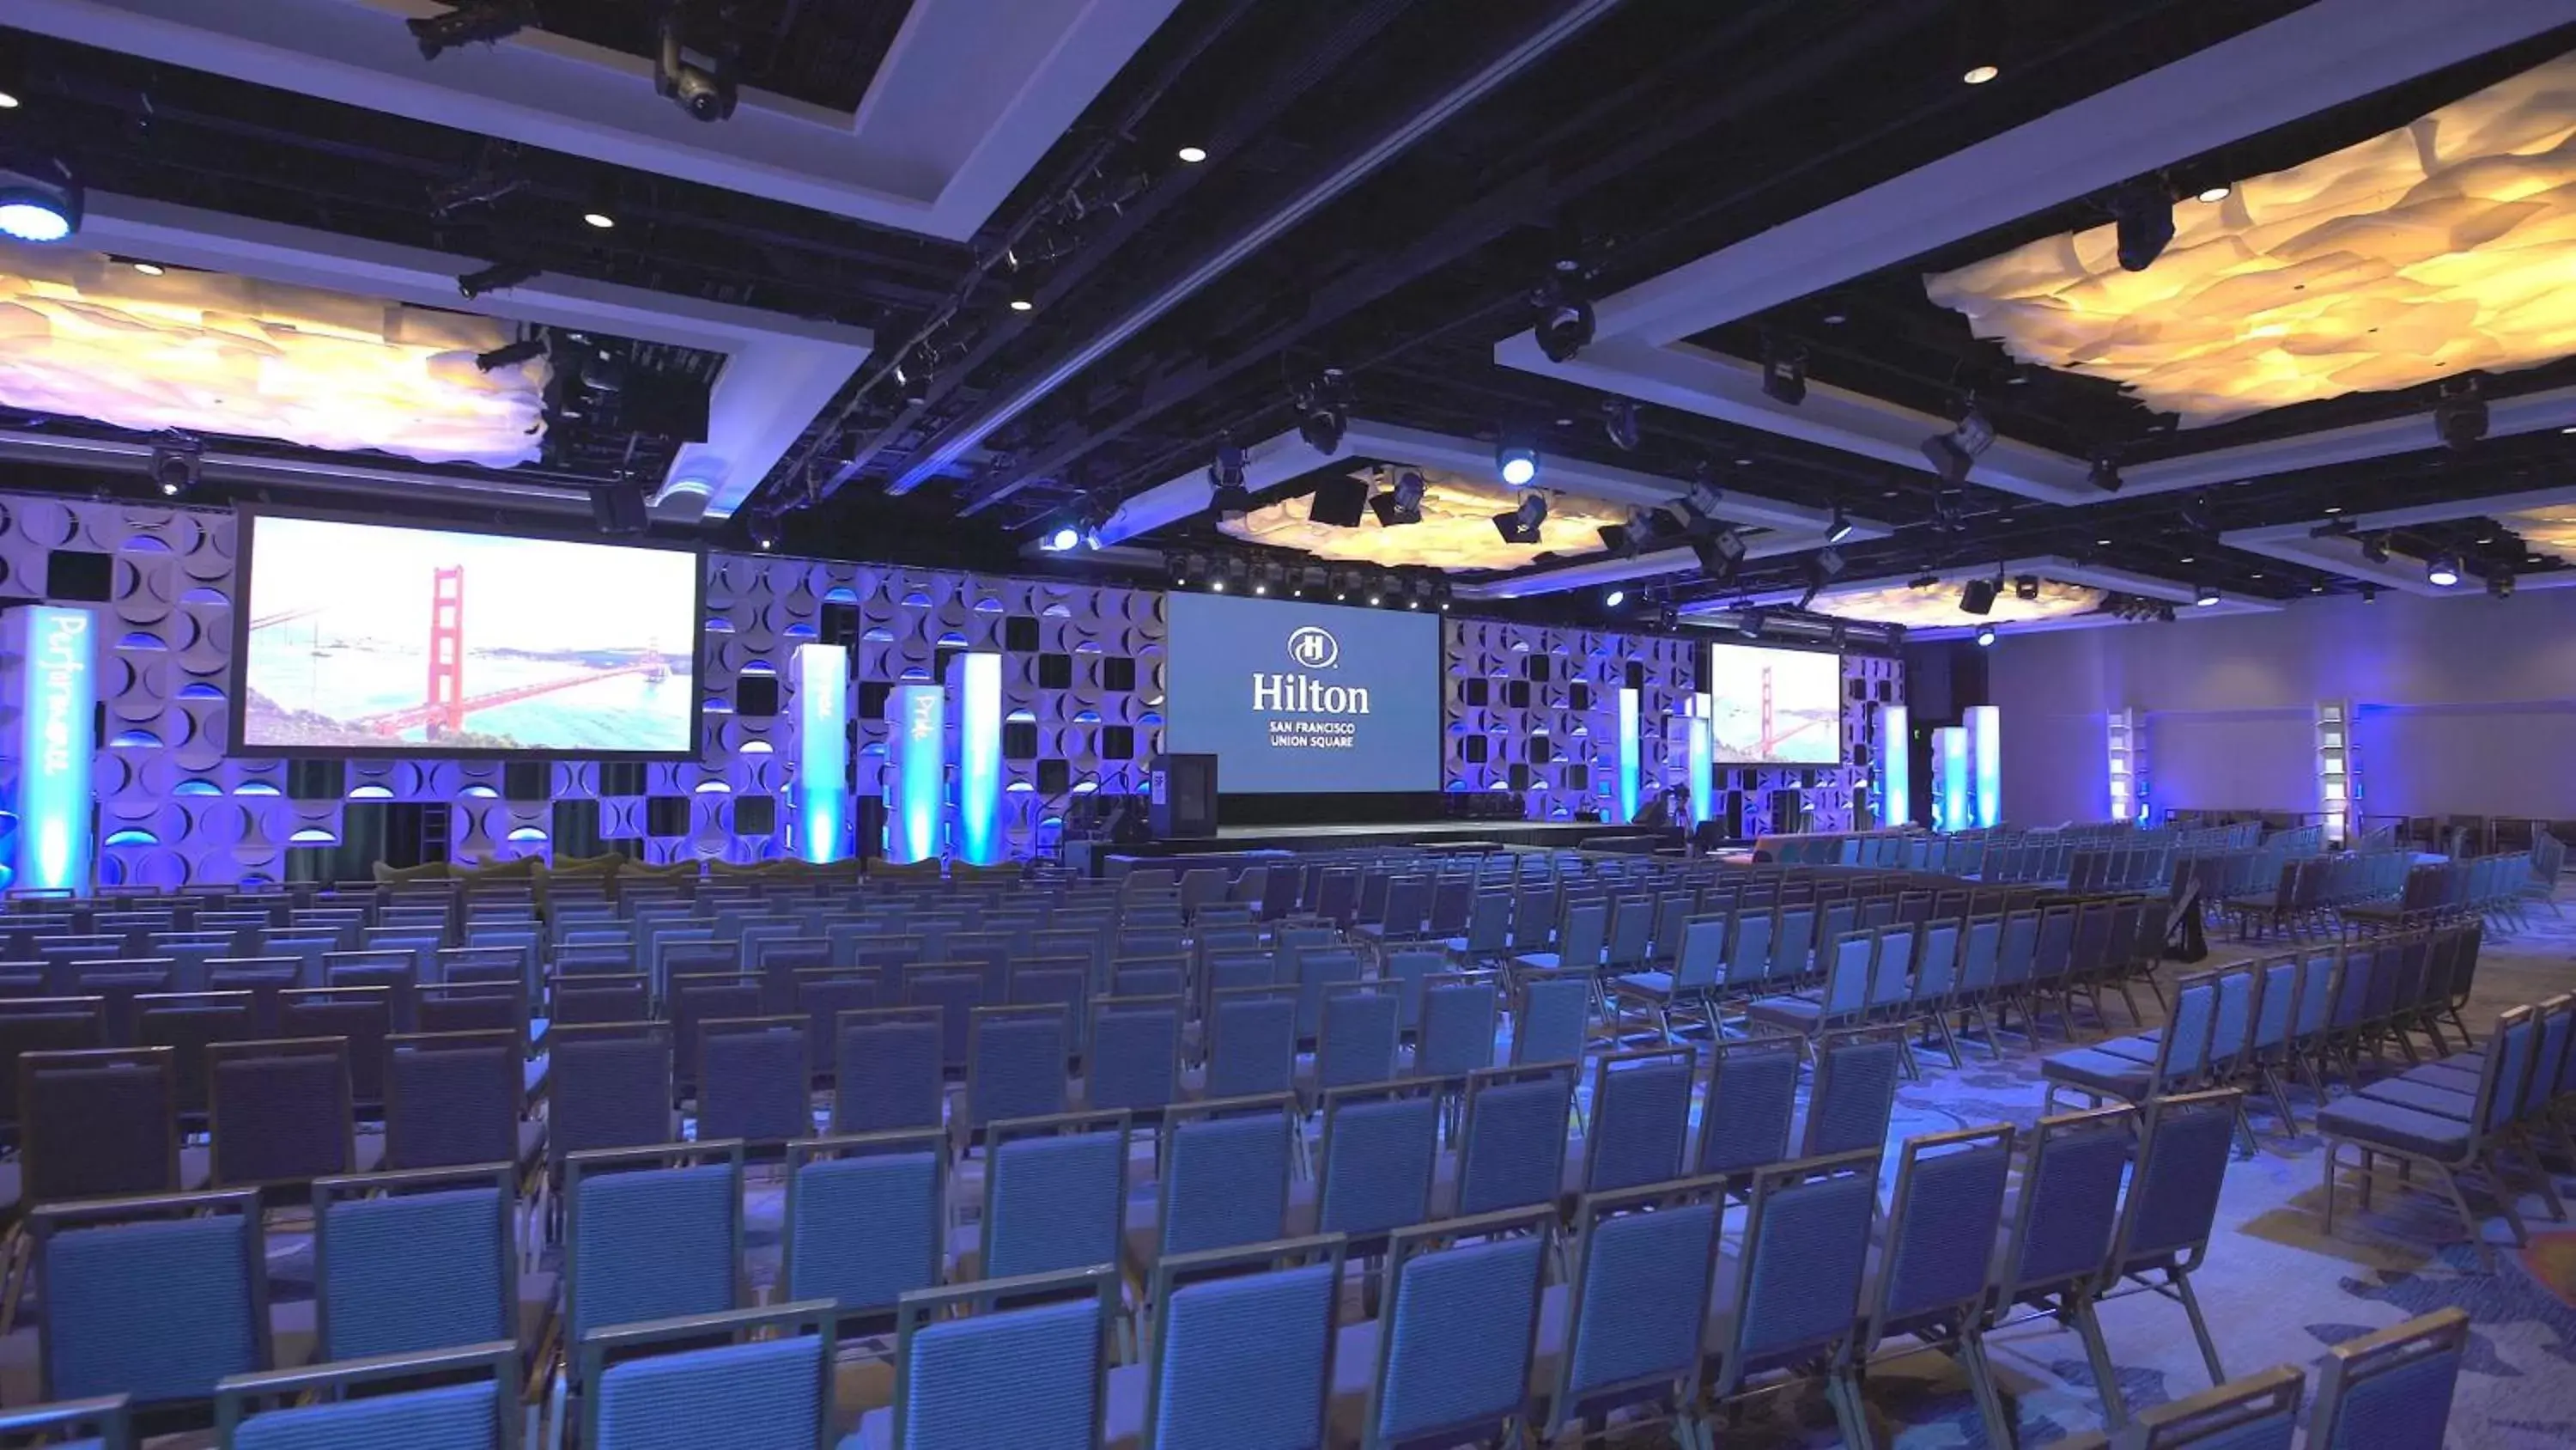
[[[1164,749],[1229,793],[1437,791],[1440,616],[1167,595]]]

